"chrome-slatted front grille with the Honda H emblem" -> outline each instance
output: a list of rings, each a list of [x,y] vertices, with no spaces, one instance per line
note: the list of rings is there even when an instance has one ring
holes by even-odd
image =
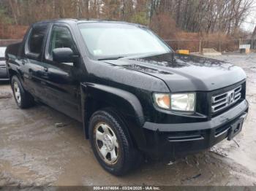
[[[241,98],[242,85],[236,87],[233,90],[229,90],[219,95],[211,97],[211,112],[219,112],[222,109],[227,108],[235,104]]]

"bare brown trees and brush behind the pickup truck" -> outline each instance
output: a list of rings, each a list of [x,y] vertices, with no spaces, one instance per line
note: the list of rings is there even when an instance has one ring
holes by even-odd
[[[254,0],[1,0],[0,39],[22,38],[39,20],[124,20],[165,39],[242,38]]]

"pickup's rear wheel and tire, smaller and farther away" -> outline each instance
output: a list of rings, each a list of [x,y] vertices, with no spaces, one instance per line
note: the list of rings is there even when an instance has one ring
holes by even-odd
[[[26,109],[34,105],[34,98],[24,90],[17,76],[12,77],[11,85],[16,104],[20,109]]]

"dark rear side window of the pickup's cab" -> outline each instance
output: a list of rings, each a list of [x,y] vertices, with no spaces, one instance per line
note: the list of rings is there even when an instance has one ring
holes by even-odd
[[[42,44],[47,35],[47,24],[34,26],[29,36],[28,48],[29,52],[39,55],[42,51]]]

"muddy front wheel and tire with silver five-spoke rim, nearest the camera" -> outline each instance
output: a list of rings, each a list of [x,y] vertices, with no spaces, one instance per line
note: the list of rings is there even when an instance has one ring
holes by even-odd
[[[91,116],[89,138],[99,164],[110,174],[127,174],[142,161],[124,121],[113,109],[103,109]]]

